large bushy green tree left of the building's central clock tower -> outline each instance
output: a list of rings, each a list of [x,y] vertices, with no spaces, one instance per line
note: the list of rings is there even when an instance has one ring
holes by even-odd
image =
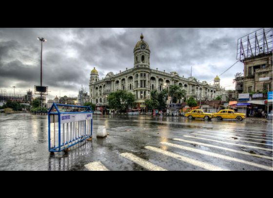
[[[115,110],[126,111],[134,106],[135,95],[125,90],[112,92],[108,96],[109,107]]]

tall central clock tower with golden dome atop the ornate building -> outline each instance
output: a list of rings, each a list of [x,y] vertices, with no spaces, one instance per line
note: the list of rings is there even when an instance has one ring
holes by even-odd
[[[143,40],[141,33],[140,39],[134,48],[134,67],[150,68],[150,49],[147,42]]]

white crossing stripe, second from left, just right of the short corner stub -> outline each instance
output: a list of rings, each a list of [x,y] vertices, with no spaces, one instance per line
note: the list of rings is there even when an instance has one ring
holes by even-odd
[[[148,162],[146,160],[143,160],[135,155],[133,155],[132,153],[121,153],[120,154],[122,157],[131,160],[135,163],[137,163],[138,165],[148,169],[148,170],[152,170],[152,171],[166,171],[166,169],[161,168],[160,166],[157,166],[151,162]]]

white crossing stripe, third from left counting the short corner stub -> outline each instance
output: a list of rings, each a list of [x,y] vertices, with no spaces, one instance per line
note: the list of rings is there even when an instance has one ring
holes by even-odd
[[[160,148],[156,148],[156,147],[153,147],[153,146],[145,146],[145,148],[148,149],[148,150],[152,150],[152,151],[161,153],[163,155],[170,156],[172,158],[175,158],[176,160],[193,164],[195,166],[198,166],[198,167],[201,167],[201,168],[204,168],[204,169],[207,169],[207,170],[215,170],[215,171],[227,170],[227,169],[220,168],[220,167],[215,166],[215,165],[210,164],[210,163],[200,162],[200,161],[194,160],[192,158],[188,158],[188,157],[185,157],[185,156],[182,156],[182,155],[178,155],[176,153],[172,153],[172,152],[169,152],[169,151],[166,151],[166,150],[162,150]]]

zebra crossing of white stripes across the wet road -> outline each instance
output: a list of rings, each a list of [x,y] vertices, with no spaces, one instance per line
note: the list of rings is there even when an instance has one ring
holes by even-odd
[[[207,126],[209,127],[209,126]],[[270,127],[229,127],[222,129],[196,129],[182,133],[175,138],[164,138],[158,145],[145,145],[145,159],[130,152],[121,152],[119,156],[145,170],[166,171],[172,162],[177,167],[195,167],[198,170],[228,171],[241,170],[273,170],[273,133]],[[162,163],[158,156],[164,157]],[[152,162],[150,157],[153,159]],[[170,160],[172,159],[172,161]],[[101,162],[86,164],[88,170],[108,170]],[[175,169],[183,170],[183,168]]]

